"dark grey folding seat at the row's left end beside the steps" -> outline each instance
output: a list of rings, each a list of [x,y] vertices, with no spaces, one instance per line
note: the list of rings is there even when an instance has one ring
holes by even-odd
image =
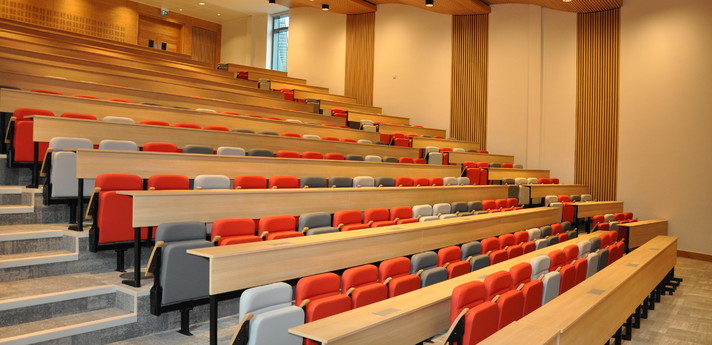
[[[212,245],[205,240],[203,223],[164,223],[156,229],[156,246],[148,265],[154,277],[150,310],[157,316],[164,311],[181,310],[180,332],[183,334],[190,334],[189,311],[209,293],[208,261],[188,254],[187,250]]]

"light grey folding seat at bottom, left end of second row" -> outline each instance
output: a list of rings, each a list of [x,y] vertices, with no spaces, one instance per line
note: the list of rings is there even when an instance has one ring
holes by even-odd
[[[288,332],[289,328],[304,324],[304,310],[292,305],[292,287],[287,283],[245,290],[240,296],[240,315],[233,337],[238,344],[302,344],[302,337]]]

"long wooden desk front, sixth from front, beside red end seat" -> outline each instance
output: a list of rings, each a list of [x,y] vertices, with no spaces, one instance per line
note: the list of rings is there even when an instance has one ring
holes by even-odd
[[[41,118],[41,119],[40,119]],[[376,144],[357,144],[340,141],[311,140],[273,135],[198,130],[189,128],[124,124],[116,122],[79,120],[37,116],[34,120],[33,140],[49,141],[54,137],[86,138],[94,144],[104,139],[131,140],[143,146],[147,142],[169,142],[178,145],[238,146],[245,150],[264,148],[272,151],[294,150],[342,154],[418,157],[418,150]]]

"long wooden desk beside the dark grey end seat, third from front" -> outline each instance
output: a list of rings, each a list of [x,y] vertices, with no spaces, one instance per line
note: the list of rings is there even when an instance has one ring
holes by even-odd
[[[534,220],[527,221],[530,217]],[[555,218],[553,210],[528,209],[188,253],[210,259],[210,294],[216,295],[513,232],[522,229],[522,222],[535,226]],[[517,225],[508,221],[512,219]]]

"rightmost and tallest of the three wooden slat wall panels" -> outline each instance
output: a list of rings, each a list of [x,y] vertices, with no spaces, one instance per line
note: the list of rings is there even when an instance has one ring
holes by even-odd
[[[578,14],[574,180],[616,199],[620,11]]]

